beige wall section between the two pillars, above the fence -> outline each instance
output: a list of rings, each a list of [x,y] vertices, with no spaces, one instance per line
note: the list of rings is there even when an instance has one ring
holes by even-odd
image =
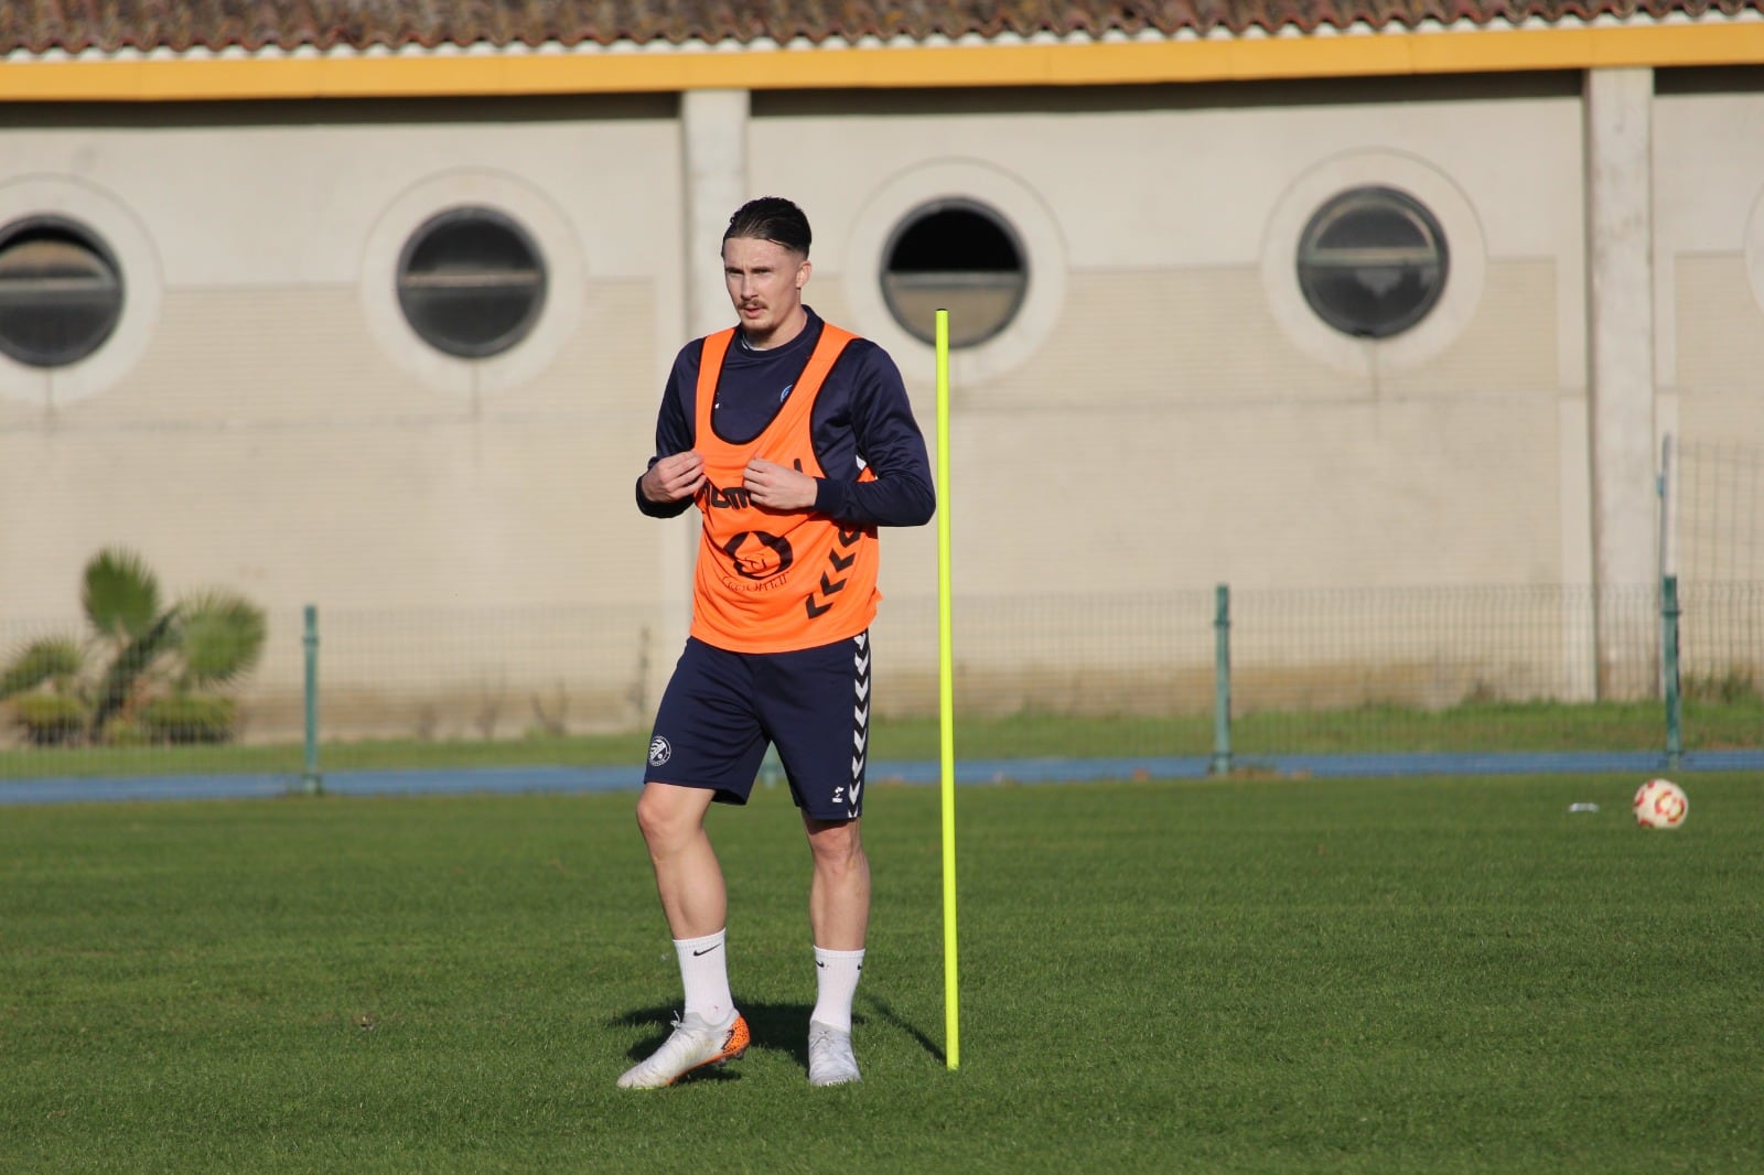
[[[956,358],[958,591],[1588,580],[1577,99],[774,104],[751,141],[755,183],[815,217],[811,298],[891,346],[921,415],[930,348],[864,291],[875,217],[977,196],[1060,288],[1034,330]],[[1471,296],[1448,291],[1422,348],[1319,339],[1270,289],[1281,224],[1357,182],[1418,187],[1445,221]],[[898,536],[893,586],[931,591],[933,556]]]

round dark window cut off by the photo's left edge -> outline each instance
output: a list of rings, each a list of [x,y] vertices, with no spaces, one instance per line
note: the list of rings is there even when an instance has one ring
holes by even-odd
[[[122,266],[90,229],[30,217],[0,229],[0,351],[67,367],[104,346],[122,318]]]

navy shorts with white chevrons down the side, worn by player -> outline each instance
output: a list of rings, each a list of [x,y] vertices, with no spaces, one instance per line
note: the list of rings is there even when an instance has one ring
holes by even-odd
[[[767,743],[806,815],[863,815],[868,632],[794,653],[730,653],[686,639],[656,711],[644,780],[709,787],[718,803],[744,805]]]

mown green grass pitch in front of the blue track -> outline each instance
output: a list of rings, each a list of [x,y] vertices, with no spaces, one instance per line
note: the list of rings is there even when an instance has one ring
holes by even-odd
[[[755,1048],[614,1089],[677,974],[632,796],[0,810],[7,1171],[1757,1171],[1764,787],[871,790],[864,1081],[808,1089],[808,854],[714,813]],[[1595,801],[1596,815],[1570,815]]]

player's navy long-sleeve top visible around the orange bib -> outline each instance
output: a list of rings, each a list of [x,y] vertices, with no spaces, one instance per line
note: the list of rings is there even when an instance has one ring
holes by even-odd
[[[773,422],[808,356],[820,341],[822,319],[811,309],[808,325],[790,342],[769,351],[751,351],[736,332],[723,358],[711,427],[732,445],[757,441]],[[695,446],[699,360],[704,341],[681,348],[662,393],[656,416],[656,455],[649,464]],[[887,351],[868,339],[854,339],[815,397],[810,416],[815,459],[826,476],[817,478],[815,512],[856,526],[923,526],[937,508],[931,462],[924,434],[912,416],[912,402],[900,369]],[[859,482],[868,466],[873,482]],[[656,519],[672,519],[691,506],[690,498],[654,503],[637,487],[637,508]]]

